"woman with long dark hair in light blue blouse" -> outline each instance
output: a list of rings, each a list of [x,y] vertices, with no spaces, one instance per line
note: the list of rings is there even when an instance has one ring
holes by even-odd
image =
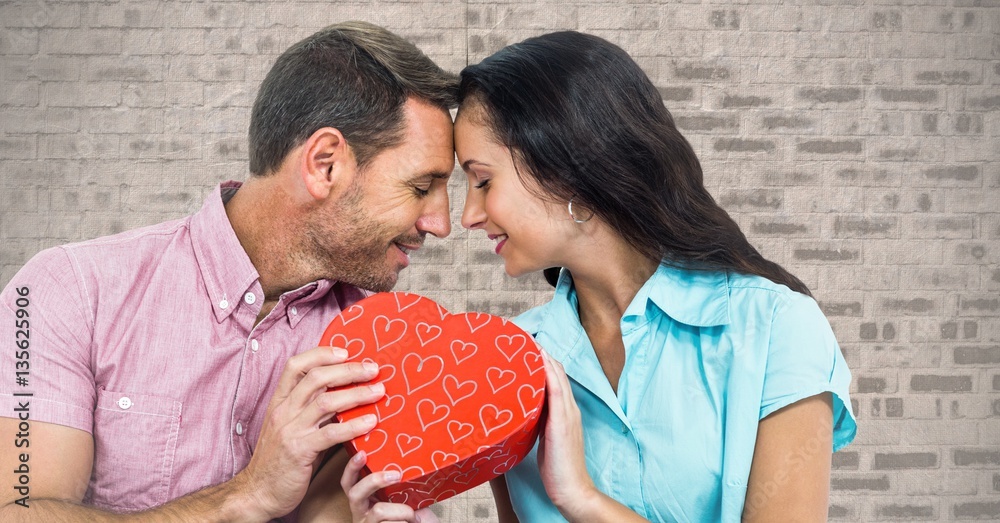
[[[806,286],[705,190],[642,70],[552,33],[465,68],[460,100],[462,225],[510,276],[562,268],[516,320],[549,354],[548,414],[494,481],[501,520],[825,520],[850,372]]]

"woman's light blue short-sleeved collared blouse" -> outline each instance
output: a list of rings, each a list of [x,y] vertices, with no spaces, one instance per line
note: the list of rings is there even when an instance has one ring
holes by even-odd
[[[833,393],[834,451],[857,430],[830,324],[812,298],[765,278],[661,265],[622,316],[617,394],[568,271],[551,302],[515,322],[571,378],[597,488],[651,521],[739,521],[757,424],[791,403]],[[525,523],[565,521],[536,452],[506,475],[514,510]]]

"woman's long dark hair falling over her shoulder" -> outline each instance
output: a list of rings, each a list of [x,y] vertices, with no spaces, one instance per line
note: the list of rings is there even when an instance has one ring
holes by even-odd
[[[459,101],[483,109],[514,164],[549,197],[592,210],[650,259],[756,274],[811,295],[761,256],[708,193],[660,93],[618,46],[550,33],[509,45],[461,76]]]

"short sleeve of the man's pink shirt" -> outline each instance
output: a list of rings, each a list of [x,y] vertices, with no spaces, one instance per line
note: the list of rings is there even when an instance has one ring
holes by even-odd
[[[85,296],[61,247],[35,255],[0,293],[0,340],[27,341],[26,349],[0,351],[0,416],[17,416],[27,402],[32,421],[93,430],[97,391]]]

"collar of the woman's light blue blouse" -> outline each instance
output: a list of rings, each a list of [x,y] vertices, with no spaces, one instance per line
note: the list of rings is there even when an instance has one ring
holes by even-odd
[[[569,271],[559,272],[554,300],[568,302],[577,310],[576,291]],[[642,315],[652,302],[675,321],[694,327],[729,324],[729,274],[699,271],[660,264],[639,288],[625,315]]]

